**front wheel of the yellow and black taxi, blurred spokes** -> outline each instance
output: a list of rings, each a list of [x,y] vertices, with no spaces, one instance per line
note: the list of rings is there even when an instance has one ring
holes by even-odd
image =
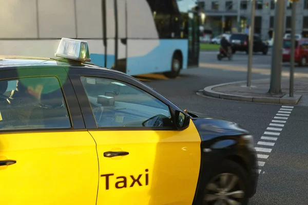
[[[246,205],[247,188],[245,170],[238,163],[226,160],[205,186],[202,204]]]

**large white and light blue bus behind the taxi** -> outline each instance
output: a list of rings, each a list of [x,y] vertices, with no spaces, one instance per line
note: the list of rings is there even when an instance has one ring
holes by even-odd
[[[91,63],[129,75],[199,63],[193,0],[0,0],[0,55],[54,57],[62,37],[87,40]]]

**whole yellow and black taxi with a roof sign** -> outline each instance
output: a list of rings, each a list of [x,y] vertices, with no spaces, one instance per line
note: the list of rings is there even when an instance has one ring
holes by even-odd
[[[247,204],[253,137],[181,110],[141,81],[90,63],[0,56],[0,204]]]

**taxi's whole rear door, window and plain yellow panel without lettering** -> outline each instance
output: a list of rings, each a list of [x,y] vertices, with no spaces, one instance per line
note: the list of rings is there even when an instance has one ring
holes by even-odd
[[[65,70],[0,69],[0,92],[0,204],[94,205],[95,142]]]

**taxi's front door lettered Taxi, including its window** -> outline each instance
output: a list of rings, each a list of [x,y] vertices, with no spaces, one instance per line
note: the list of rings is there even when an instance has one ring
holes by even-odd
[[[93,76],[93,70],[84,71],[86,76],[71,75],[86,126],[97,143],[97,204],[191,204],[201,155],[194,123],[191,121],[183,131],[168,126],[142,127],[142,122],[139,126],[137,119],[149,110],[158,110],[141,102],[131,103],[138,96],[147,98],[153,106],[161,106],[159,110],[165,116],[170,115],[168,106],[137,85],[108,76],[108,72],[101,71],[104,77]],[[101,106],[104,102],[100,97],[109,91],[118,92],[114,106]],[[126,120],[130,117],[136,120]]]

